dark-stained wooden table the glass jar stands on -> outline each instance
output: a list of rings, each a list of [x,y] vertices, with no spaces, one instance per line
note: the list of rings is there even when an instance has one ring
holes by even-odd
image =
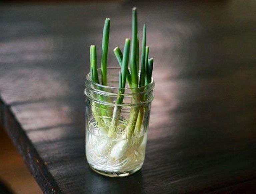
[[[83,94],[89,45],[131,37],[131,8],[155,58],[145,163],[92,172]],[[256,192],[255,1],[1,4],[0,119],[45,193]],[[100,54],[100,49],[98,49]],[[113,52],[109,64],[117,65]],[[248,190],[248,188],[250,188]]]

